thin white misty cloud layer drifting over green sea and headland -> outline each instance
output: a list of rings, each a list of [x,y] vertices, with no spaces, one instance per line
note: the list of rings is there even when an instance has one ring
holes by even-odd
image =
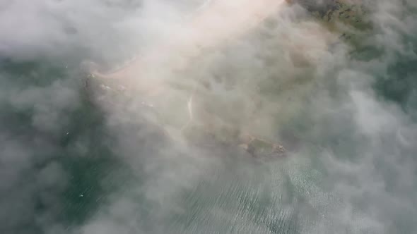
[[[65,135],[71,123],[67,113],[80,107],[78,77],[70,71],[48,85],[27,87],[15,80],[16,73],[4,71],[1,104],[17,112],[33,111],[28,128],[35,131],[18,136],[7,130],[6,123],[0,125],[4,131],[0,191],[8,193],[1,205],[6,212],[0,212],[0,223],[8,223],[4,228],[18,230],[35,219],[37,227],[49,233],[274,233],[285,227],[300,233],[401,233],[401,226],[415,230],[416,124],[402,106],[381,97],[373,85],[390,78],[389,70],[399,58],[416,58],[410,40],[416,16],[399,2],[372,1],[375,32],[363,40],[380,52],[372,59],[351,56],[350,47],[338,35],[308,18],[300,6],[281,8],[248,34],[237,35],[236,30],[232,31],[236,35],[223,38],[226,26],[233,25],[232,16],[226,16],[211,30],[199,29],[201,35],[210,36],[201,37],[208,45],[201,51],[181,43],[169,50],[159,47],[172,42],[172,35],[190,41],[199,38],[189,37],[182,28],[195,17],[188,13],[198,4],[3,1],[0,53],[12,61],[55,58],[49,61],[64,67],[81,58],[113,66],[114,61],[157,51],[157,59],[145,63],[155,68],[142,75],[148,77],[137,78],[144,66],[139,64],[131,69],[133,81],[121,84],[134,87],[142,79],[142,85],[149,85],[149,77],[163,75],[192,87],[193,78],[206,79],[215,90],[206,102],[215,112],[240,128],[269,137],[293,131],[299,138],[294,144],[298,151],[290,152],[287,159],[255,165],[248,155],[207,139],[199,143],[211,147],[167,142],[158,128],[144,124],[147,119],[138,107],[143,107],[138,92],[128,99],[115,95],[112,104],[101,106],[106,133],[117,137],[112,150],[133,171],[132,181],[103,195],[110,196],[108,203],[84,225],[66,229],[55,214],[62,205],[59,192],[71,183],[71,175],[65,165],[45,160],[56,159],[47,156],[59,152],[56,145],[52,147],[54,137]],[[175,67],[182,70],[170,70]],[[37,73],[20,76],[30,82],[44,79]],[[184,105],[178,100],[187,101],[189,94],[168,92],[154,100],[172,116],[187,116],[180,113],[178,106]],[[69,152],[88,157],[89,147],[98,144],[93,138],[79,136],[67,146]],[[46,207],[39,216],[33,197]]]

